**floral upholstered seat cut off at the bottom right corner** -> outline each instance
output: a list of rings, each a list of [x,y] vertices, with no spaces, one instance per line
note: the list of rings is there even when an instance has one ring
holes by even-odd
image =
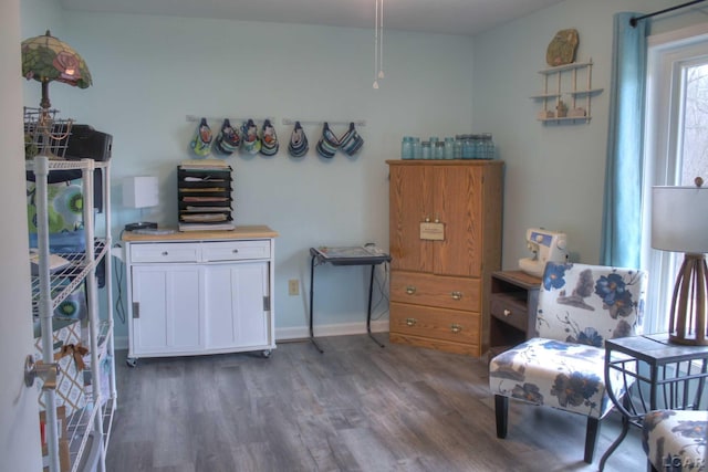
[[[644,416],[642,445],[657,471],[706,471],[708,411],[655,410]]]

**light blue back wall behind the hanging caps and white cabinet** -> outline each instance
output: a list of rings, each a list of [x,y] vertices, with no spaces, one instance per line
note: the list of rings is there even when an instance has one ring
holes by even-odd
[[[140,218],[122,207],[119,181],[126,176],[159,176],[164,204],[144,218],[176,223],[176,167],[190,158],[187,145],[196,127],[186,115],[274,116],[283,141],[291,127],[282,118],[366,122],[358,129],[364,149],[355,159],[319,158],[321,127],[306,126],[311,150],[301,161],[289,158],[284,145],[273,158],[228,160],[237,223],[264,223],[280,233],[279,338],[306,334],[310,247],[388,247],[385,160],[398,158],[402,137],[470,132],[470,38],[387,32],[386,78],[374,91],[369,30],[75,12],[63,19],[62,39],[86,60],[94,86],[52,84],[52,104],[114,137],[116,239],[126,222]],[[337,135],[345,129],[334,126]],[[288,295],[290,279],[300,280],[301,296]],[[364,328],[368,271],[323,266],[315,282],[321,333]],[[125,333],[118,322],[116,335]]]

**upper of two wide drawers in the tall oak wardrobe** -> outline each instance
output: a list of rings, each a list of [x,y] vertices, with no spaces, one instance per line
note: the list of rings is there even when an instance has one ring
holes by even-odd
[[[391,301],[480,312],[480,285],[479,279],[394,271]]]

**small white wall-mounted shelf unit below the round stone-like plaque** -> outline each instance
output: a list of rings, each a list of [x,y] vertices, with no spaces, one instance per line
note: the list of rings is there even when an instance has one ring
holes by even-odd
[[[531,98],[541,103],[537,116],[540,122],[590,122],[591,98],[602,92],[592,87],[592,60],[544,69],[539,74],[543,76],[543,91]]]

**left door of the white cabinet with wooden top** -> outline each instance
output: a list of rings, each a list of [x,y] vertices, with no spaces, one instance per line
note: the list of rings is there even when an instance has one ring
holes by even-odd
[[[134,355],[201,348],[201,280],[200,269],[194,265],[132,268]]]

